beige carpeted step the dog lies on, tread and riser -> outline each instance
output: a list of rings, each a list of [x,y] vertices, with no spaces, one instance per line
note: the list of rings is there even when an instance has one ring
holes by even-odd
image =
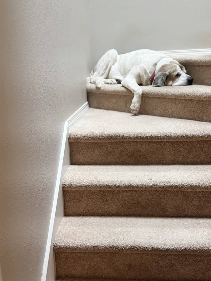
[[[210,86],[142,86],[142,91],[140,114],[211,122]],[[121,84],[99,89],[89,83],[87,98],[93,108],[130,112],[133,93]]]

